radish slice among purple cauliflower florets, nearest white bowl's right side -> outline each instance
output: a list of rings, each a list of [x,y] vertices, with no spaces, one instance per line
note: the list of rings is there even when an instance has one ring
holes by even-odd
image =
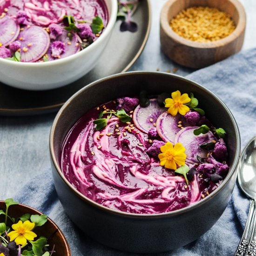
[[[61,41],[64,44],[64,53],[60,54],[58,58],[55,58],[52,56],[52,44],[51,42],[50,47],[47,51],[47,59],[48,61],[54,61],[58,59],[63,59],[67,56],[73,55],[80,51],[80,45],[79,45],[80,38],[78,35],[73,34],[72,40],[69,40],[67,36],[67,31],[63,29],[63,33],[61,36],[58,36],[55,41]]]

